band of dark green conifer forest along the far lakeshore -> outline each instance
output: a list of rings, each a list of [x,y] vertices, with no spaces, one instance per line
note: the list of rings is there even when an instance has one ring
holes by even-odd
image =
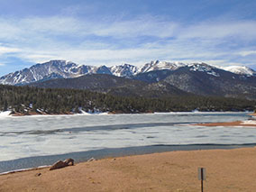
[[[145,98],[113,96],[87,90],[0,86],[0,111],[67,114],[84,111],[151,113],[254,110],[256,101],[206,96]]]

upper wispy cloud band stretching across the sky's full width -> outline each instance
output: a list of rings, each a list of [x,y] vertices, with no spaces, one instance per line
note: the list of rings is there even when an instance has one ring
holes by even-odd
[[[103,18],[101,21],[80,19],[75,16],[49,16],[27,18],[0,18],[0,38],[28,40],[49,35],[73,36],[111,36],[113,38],[131,38],[139,36],[154,36],[159,38],[224,38],[237,36],[256,38],[255,21],[237,22],[206,22],[193,25],[174,23],[165,18],[144,15],[131,20],[114,17]]]

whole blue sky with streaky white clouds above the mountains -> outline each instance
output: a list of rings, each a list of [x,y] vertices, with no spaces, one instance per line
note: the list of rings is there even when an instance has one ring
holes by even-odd
[[[256,69],[255,0],[0,0],[0,76],[50,59]]]

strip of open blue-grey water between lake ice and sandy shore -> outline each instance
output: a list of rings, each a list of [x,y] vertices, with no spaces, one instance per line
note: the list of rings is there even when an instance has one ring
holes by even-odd
[[[46,156],[34,156],[15,160],[0,161],[0,175],[7,172],[16,172],[27,169],[38,169],[48,167],[58,160],[74,159],[77,163],[87,162],[91,158],[104,160],[107,158],[121,158],[134,155],[145,155],[171,151],[211,151],[211,150],[232,150],[241,148],[253,148],[256,143],[243,144],[179,144],[179,145],[149,145],[125,148],[109,148],[95,151],[78,151],[65,154]]]

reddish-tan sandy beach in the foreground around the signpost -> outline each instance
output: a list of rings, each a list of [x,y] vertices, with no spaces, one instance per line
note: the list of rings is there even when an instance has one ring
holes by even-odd
[[[256,191],[256,148],[171,151],[0,176],[0,191]]]

